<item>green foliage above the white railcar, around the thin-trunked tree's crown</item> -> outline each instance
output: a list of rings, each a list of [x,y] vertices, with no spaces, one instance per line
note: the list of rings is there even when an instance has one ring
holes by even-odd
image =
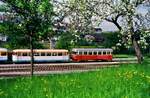
[[[10,38],[11,48],[29,46],[29,38],[37,43],[52,32],[53,5],[50,0],[5,0],[10,7],[10,18],[3,21],[2,31]],[[13,14],[15,13],[15,14]],[[21,44],[22,43],[22,44]],[[34,48],[38,48],[34,44]]]

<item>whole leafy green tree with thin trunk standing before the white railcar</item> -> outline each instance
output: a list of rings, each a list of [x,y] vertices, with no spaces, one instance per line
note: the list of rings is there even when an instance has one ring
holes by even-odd
[[[50,0],[0,0],[10,8],[14,21],[8,31],[17,32],[30,43],[33,75],[33,48],[35,39],[52,31],[53,5]],[[11,30],[10,30],[11,28]],[[19,32],[18,32],[19,30]]]

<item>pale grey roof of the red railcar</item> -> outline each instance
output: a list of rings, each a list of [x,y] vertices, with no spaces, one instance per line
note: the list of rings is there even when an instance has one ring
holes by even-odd
[[[73,48],[72,51],[110,51],[113,50],[110,48]]]

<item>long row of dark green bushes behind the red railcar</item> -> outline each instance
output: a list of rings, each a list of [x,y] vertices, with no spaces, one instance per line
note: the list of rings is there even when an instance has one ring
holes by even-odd
[[[104,41],[97,42],[94,40],[88,42],[84,38],[76,38],[72,35],[72,33],[67,32],[60,36],[60,39],[56,44],[56,48],[68,50],[71,48],[112,48],[114,53],[134,54],[135,52],[133,47],[127,49],[123,44],[117,46],[117,43],[119,43],[119,40],[121,39],[119,34],[119,32],[104,32],[99,35],[104,38]]]

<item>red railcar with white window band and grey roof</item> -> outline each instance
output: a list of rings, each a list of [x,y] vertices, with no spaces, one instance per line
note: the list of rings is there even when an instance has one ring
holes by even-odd
[[[103,48],[74,48],[72,49],[71,59],[73,61],[112,61],[112,49]]]

